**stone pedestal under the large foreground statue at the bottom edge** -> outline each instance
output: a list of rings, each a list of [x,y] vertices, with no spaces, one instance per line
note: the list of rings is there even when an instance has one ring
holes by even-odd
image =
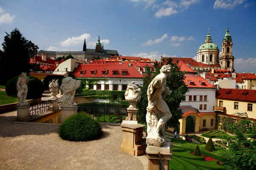
[[[160,159],[163,162],[164,168],[169,170],[169,160],[171,160],[172,156],[171,142],[167,142],[167,144],[162,147],[148,145],[146,148],[146,153],[148,158],[148,170],[159,170]],[[158,153],[160,153],[161,158]]]

